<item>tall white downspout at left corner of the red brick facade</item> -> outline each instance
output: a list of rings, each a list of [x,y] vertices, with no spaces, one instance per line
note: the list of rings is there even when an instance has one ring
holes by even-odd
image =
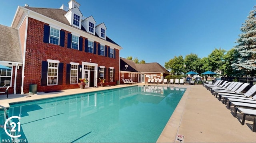
[[[29,14],[29,11],[28,11]],[[25,31],[25,42],[24,42],[24,55],[23,55],[23,63],[22,63],[22,80],[21,80],[21,93],[24,94],[24,71],[25,71],[25,57],[26,57],[26,45],[27,45],[27,33],[28,33],[28,14],[27,14],[27,20],[26,20],[26,31]]]

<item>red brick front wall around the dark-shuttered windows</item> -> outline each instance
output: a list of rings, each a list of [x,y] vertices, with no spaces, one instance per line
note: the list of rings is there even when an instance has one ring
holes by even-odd
[[[82,65],[82,61],[92,63],[98,63],[98,66],[105,66],[106,68],[114,67],[115,69],[115,82],[108,82],[106,78],[105,85],[116,84],[119,73],[119,50],[116,49],[116,59],[108,58],[92,53],[84,52],[86,37],[83,37],[83,51],[67,48],[68,33],[72,31],[65,31],[65,45],[60,47],[58,45],[44,43],[44,22],[29,18],[28,19],[28,33],[26,43],[26,60],[25,60],[25,77],[24,77],[24,93],[28,93],[29,84],[37,84],[37,91],[54,91],[63,89],[79,88],[77,84],[66,85],[66,64],[70,62],[79,63]],[[97,41],[96,41],[97,42]],[[98,45],[96,47],[98,51]],[[106,51],[108,53],[108,51]],[[63,68],[63,84],[54,86],[40,86],[41,85],[41,70],[42,61],[59,60],[60,63],[64,63]],[[107,72],[108,77],[108,72]]]

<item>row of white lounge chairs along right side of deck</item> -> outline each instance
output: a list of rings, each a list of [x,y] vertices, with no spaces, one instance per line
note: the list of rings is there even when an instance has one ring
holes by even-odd
[[[254,119],[252,131],[256,132],[256,84],[244,92],[249,85],[249,83],[223,80],[217,80],[215,84],[204,84],[219,101],[227,105],[228,109],[233,109],[234,117],[237,117],[237,112],[243,115],[242,125],[246,116],[251,116]]]

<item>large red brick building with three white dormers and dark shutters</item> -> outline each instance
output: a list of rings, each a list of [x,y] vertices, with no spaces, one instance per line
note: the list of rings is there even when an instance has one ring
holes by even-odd
[[[79,88],[79,78],[88,80],[86,87],[99,86],[99,78],[106,79],[105,85],[119,80],[122,47],[106,36],[104,23],[84,18],[75,0],[60,8],[18,6],[11,27],[0,28],[12,33],[7,39],[19,41],[9,46],[17,49],[12,53],[17,58],[0,59],[0,65],[12,68],[10,93],[28,93],[31,84],[38,92]],[[0,48],[10,54],[5,46]]]

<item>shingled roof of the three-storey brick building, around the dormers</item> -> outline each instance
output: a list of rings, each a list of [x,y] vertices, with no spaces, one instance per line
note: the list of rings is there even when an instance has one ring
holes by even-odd
[[[33,7],[24,7],[24,8],[32,10],[32,11],[38,13],[38,14],[42,14],[42,15],[48,17],[48,18],[51,18],[51,19],[56,20],[58,22],[61,22],[63,24],[70,25],[70,23],[68,22],[68,20],[64,16],[64,14],[66,14],[65,10],[58,9],[58,8],[33,8]],[[74,26],[72,26],[72,27],[74,27]],[[76,28],[76,27],[74,27],[74,28]],[[77,28],[77,29],[79,29],[79,28]],[[82,27],[81,30],[86,32],[86,30],[83,27]],[[96,36],[99,37],[97,34],[96,34]],[[110,43],[118,45],[116,42],[114,42],[112,39],[110,39],[107,36],[106,36],[106,41],[109,41]]]

